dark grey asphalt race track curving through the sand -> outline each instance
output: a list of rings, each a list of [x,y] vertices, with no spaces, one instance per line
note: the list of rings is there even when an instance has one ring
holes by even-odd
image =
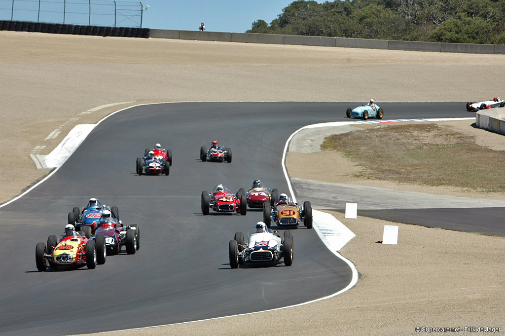
[[[340,291],[351,270],[305,227],[293,231],[292,266],[230,269],[228,242],[236,231],[252,229],[262,212],[240,216],[211,210],[204,217],[200,194],[218,183],[232,191],[247,188],[257,178],[287,193],[281,157],[289,135],[308,124],[348,120],[345,109],[355,105],[173,103],[139,106],[106,119],[51,178],[0,208],[0,334],[63,335],[177,323],[284,307]],[[384,119],[472,116],[463,103],[380,106]],[[199,161],[200,147],[214,138],[232,149],[231,164]],[[136,175],[135,159],[156,142],[173,152],[170,175]],[[68,212],[90,197],[118,206],[124,224],[139,224],[140,250],[110,256],[94,270],[38,272],[35,244],[60,234]]]

